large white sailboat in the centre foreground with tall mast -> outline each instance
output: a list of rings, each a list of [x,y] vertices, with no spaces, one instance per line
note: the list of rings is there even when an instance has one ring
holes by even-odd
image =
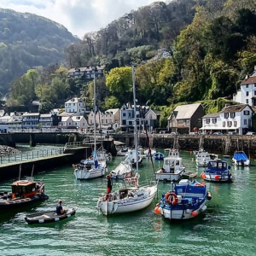
[[[135,92],[135,73],[132,67],[132,84],[134,100],[134,133],[135,133],[135,152],[137,154],[137,122],[136,122],[136,92]],[[136,160],[136,170],[138,172],[138,159]],[[157,193],[158,182],[139,186],[139,175],[125,178],[125,187],[109,194],[103,194],[97,201],[97,208],[104,215],[114,213],[125,213],[142,210],[148,207],[154,200]]]

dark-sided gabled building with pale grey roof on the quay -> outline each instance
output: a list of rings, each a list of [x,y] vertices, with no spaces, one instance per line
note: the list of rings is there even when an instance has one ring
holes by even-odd
[[[189,133],[201,128],[201,118],[205,109],[201,103],[177,106],[168,118],[168,131]]]

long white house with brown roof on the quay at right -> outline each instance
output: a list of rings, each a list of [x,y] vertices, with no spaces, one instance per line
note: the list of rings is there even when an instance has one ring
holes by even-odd
[[[248,105],[233,105],[223,108],[219,113],[209,113],[202,117],[201,131],[236,131],[242,135],[252,129],[253,109]]]

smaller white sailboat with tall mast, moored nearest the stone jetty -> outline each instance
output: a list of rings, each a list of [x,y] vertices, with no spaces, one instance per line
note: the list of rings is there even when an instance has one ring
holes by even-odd
[[[76,179],[90,179],[104,176],[107,169],[106,160],[99,160],[96,150],[96,76],[94,76],[94,151],[87,160],[82,160],[74,169]]]

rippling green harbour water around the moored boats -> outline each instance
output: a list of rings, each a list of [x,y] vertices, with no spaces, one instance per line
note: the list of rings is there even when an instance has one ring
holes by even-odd
[[[193,155],[181,156],[187,172],[197,170]],[[108,170],[120,160],[114,158]],[[157,199],[143,211],[105,218],[96,209],[98,197],[106,191],[105,178],[77,181],[71,166],[49,171],[35,175],[44,179],[48,201],[0,215],[0,255],[256,255],[256,166],[232,166],[234,183],[207,183],[212,192],[207,211],[177,223],[154,214]],[[142,181],[153,178],[149,160],[143,161],[139,173]],[[201,169],[198,173],[202,181]],[[13,181],[0,183],[1,191],[9,190]],[[113,190],[121,185],[114,182]],[[160,183],[159,197],[169,188],[170,183]],[[27,213],[53,209],[59,199],[64,207],[78,207],[75,217],[55,224],[26,224]]]

